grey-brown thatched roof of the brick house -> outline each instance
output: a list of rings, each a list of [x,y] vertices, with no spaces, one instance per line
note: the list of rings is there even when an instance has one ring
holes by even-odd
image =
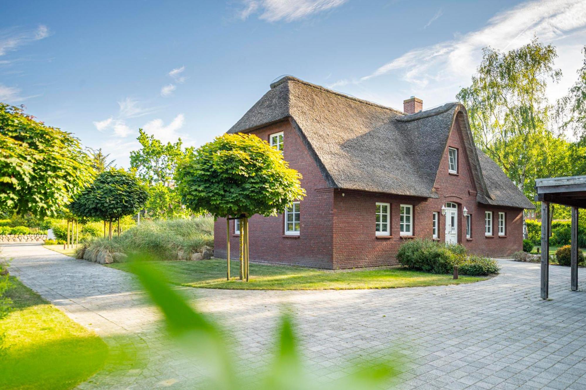
[[[286,76],[271,84],[271,90],[228,132],[248,132],[289,119],[328,186],[437,198],[433,190],[435,176],[456,118],[460,119],[460,126],[465,126],[462,134],[469,141],[466,153],[479,187],[478,201],[533,207],[502,171],[502,176],[495,175],[489,166],[489,175],[483,175],[486,164],[480,169],[466,110],[458,103],[406,115]],[[485,183],[488,178],[503,180],[503,177],[504,184]]]

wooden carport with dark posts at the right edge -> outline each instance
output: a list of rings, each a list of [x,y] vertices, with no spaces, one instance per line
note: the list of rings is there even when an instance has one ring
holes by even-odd
[[[578,290],[578,208],[586,208],[586,176],[554,177],[535,180],[541,201],[541,298],[549,295],[550,203],[571,207],[571,290]]]

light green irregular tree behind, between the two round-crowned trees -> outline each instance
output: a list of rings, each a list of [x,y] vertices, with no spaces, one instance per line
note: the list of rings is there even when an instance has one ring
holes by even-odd
[[[179,161],[193,148],[183,150],[183,142],[179,138],[177,142],[162,143],[154,135],[148,135],[142,129],[138,129],[138,142],[141,149],[130,152],[130,167],[135,169],[137,176],[149,186],[162,183],[169,186]]]

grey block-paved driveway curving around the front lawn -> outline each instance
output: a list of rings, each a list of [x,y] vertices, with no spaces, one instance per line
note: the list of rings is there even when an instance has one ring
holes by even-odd
[[[106,367],[82,388],[196,386],[200,372],[163,337],[158,312],[128,273],[40,245],[6,245],[12,272],[134,365]],[[502,273],[460,286],[346,291],[185,289],[227,326],[242,367],[267,367],[282,306],[295,313],[307,367],[337,378],[349,360],[393,354],[399,388],[586,388],[586,292],[570,269],[550,267],[550,301],[539,299],[539,265],[500,261]],[[586,269],[579,270],[580,280]],[[584,283],[580,283],[580,288]],[[114,337],[116,336],[116,337]]]

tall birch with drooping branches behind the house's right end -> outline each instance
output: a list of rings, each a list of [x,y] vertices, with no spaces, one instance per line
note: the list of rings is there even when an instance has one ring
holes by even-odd
[[[536,177],[530,170],[540,163],[551,106],[548,81],[557,82],[556,48],[536,38],[502,53],[484,49],[482,63],[472,84],[456,98],[468,109],[474,141],[527,194]]]

